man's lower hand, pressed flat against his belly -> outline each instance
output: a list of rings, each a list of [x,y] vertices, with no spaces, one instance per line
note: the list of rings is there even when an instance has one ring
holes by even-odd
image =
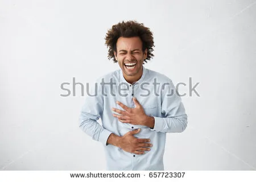
[[[152,147],[150,142],[150,139],[146,138],[136,138],[133,135],[139,133],[141,129],[133,130],[127,132],[125,135],[119,139],[118,146],[122,148],[122,150],[134,154],[145,154],[144,151],[150,151],[150,148]]]

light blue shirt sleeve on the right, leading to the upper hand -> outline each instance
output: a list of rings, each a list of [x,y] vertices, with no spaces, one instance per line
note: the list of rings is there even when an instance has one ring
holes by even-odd
[[[165,85],[164,92],[161,94],[161,113],[162,117],[155,118],[153,131],[163,133],[183,132],[187,127],[187,114],[181,102],[179,93],[176,92],[175,86],[170,80]]]

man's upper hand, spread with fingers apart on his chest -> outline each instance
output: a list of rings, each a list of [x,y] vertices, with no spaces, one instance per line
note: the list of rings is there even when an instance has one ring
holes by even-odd
[[[118,114],[113,114],[114,117],[117,117],[119,121],[123,123],[130,123],[131,125],[144,125],[148,126],[148,120],[150,117],[144,113],[143,107],[139,104],[138,100],[133,98],[134,104],[136,107],[131,108],[123,105],[121,102],[117,101],[117,104],[121,106],[124,110],[119,110],[112,108]]]

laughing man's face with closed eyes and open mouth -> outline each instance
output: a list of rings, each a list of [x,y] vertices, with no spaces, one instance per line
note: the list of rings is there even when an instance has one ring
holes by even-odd
[[[147,58],[147,49],[142,52],[142,41],[138,36],[132,38],[120,37],[117,40],[117,52],[114,51],[124,77],[139,77],[142,75],[142,65]]]

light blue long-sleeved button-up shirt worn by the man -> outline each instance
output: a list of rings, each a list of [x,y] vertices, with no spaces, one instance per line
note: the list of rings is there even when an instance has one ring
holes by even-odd
[[[102,86],[102,78],[109,84]],[[143,67],[142,77],[131,85],[123,77],[122,70],[118,69],[97,79],[96,84],[90,87],[90,94],[96,93],[97,96],[86,96],[79,127],[92,139],[102,142],[106,155],[106,170],[164,170],[166,133],[182,132],[188,123],[181,98],[170,78]],[[155,118],[154,129],[122,123],[113,117],[112,107],[123,110],[115,101],[135,107],[133,97],[137,98],[147,115]],[[102,126],[97,122],[99,118]],[[150,151],[144,151],[145,154],[129,153],[112,144],[106,144],[111,133],[122,136],[134,129],[141,129],[134,137],[150,138],[150,143],[153,144]]]

